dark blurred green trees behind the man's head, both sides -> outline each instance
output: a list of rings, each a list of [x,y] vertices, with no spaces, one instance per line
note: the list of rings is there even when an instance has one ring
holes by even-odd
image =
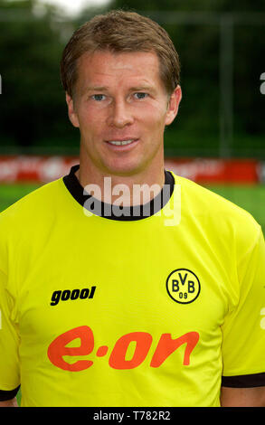
[[[181,156],[219,155],[223,90],[219,18],[220,14],[232,13],[235,131],[230,149],[236,156],[265,157],[265,96],[260,94],[260,74],[265,71],[264,22],[243,24],[236,17],[265,12],[264,0],[111,0],[106,6],[88,6],[74,20],[38,0],[0,0],[2,146],[18,144],[24,151],[33,152],[38,148],[47,153],[78,152],[79,131],[67,118],[60,81],[62,50],[80,24],[114,8],[149,15],[175,42],[184,96],[179,116],[166,129],[166,151]]]

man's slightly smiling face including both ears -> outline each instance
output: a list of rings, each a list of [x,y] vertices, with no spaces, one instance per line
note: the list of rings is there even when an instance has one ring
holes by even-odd
[[[164,129],[180,99],[179,86],[166,94],[153,52],[83,54],[74,101],[66,95],[71,123],[80,127],[80,161],[100,175],[161,167]]]

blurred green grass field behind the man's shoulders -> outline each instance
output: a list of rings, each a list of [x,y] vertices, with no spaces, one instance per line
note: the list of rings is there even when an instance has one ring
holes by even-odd
[[[0,211],[5,210],[9,205],[25,194],[29,194],[37,187],[39,186],[36,184],[0,184]],[[218,185],[207,187],[251,213],[257,222],[260,222],[265,233],[265,185]],[[21,392],[17,394],[17,401],[20,405]]]

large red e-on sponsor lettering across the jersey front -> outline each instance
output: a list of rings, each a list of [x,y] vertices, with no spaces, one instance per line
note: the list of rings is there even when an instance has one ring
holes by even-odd
[[[80,338],[80,346],[66,346],[76,338]],[[171,334],[162,334],[155,352],[152,356],[150,367],[159,367],[163,364],[170,354],[185,344],[184,365],[190,364],[190,355],[192,354],[195,345],[199,341],[197,332],[188,332],[185,335],[173,339]],[[134,354],[129,360],[126,358],[128,346],[136,343]],[[109,355],[109,366],[113,369],[134,369],[139,364],[142,364],[147,357],[149,349],[152,345],[153,337],[147,332],[130,332],[122,335],[114,345]],[[54,366],[57,366],[65,371],[80,372],[92,366],[93,362],[88,359],[77,360],[75,363],[68,363],[63,359],[63,356],[80,356],[91,354],[94,350],[94,335],[89,326],[75,327],[62,335],[57,336],[48,347],[48,357]],[[108,354],[108,345],[99,346],[96,351],[97,357],[103,357]]]

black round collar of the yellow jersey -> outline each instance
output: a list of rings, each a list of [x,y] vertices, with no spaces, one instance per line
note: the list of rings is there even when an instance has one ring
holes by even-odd
[[[63,177],[63,183],[73,196],[73,198],[86,208],[90,213],[99,215],[110,220],[136,221],[145,219],[155,213],[158,213],[169,201],[174,191],[175,180],[173,175],[165,171],[165,184],[160,192],[149,203],[134,206],[118,206],[110,203],[102,203],[90,194],[86,193],[84,188],[75,175],[80,165],[73,165],[69,175]]]

